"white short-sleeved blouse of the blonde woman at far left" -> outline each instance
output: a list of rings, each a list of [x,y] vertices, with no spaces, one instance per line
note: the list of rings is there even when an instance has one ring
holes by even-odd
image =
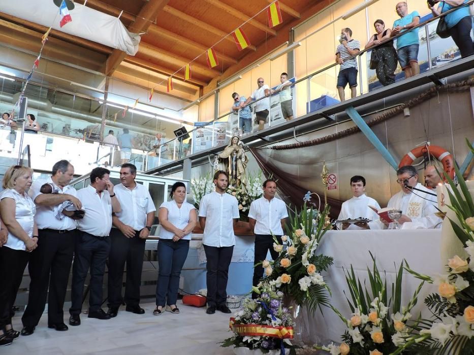
[[[4,198],[11,198],[15,200],[15,217],[21,228],[28,234],[30,238],[33,237],[33,227],[35,225],[34,217],[36,207],[33,200],[25,193],[20,195],[14,189],[7,189],[0,193],[0,200]],[[14,236],[10,231],[8,232],[8,240],[4,246],[8,246],[14,250],[26,250],[23,240]]]

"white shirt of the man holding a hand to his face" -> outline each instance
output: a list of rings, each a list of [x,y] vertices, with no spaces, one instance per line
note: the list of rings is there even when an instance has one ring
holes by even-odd
[[[77,220],[77,229],[95,235],[106,237],[112,228],[112,201],[107,190],[99,195],[92,185],[77,192],[81,200],[84,218]]]

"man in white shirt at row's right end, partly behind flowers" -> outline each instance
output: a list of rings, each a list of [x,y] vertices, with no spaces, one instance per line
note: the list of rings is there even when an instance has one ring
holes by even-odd
[[[283,226],[288,218],[287,205],[279,198],[275,198],[276,181],[267,179],[263,183],[263,196],[252,201],[248,211],[248,222],[250,229],[255,234],[254,264],[261,263],[266,259],[268,251],[273,260],[278,258],[278,252],[273,249],[273,236],[281,243]],[[254,267],[254,278],[252,284],[257,286],[263,276],[263,267]],[[252,293],[252,298],[258,295]]]

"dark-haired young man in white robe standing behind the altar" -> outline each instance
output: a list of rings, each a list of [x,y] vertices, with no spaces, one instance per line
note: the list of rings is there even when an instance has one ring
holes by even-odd
[[[342,203],[341,211],[337,219],[342,221],[365,218],[370,221],[378,221],[378,215],[368,206],[373,206],[378,210],[380,209],[380,205],[373,198],[365,195],[364,176],[355,175],[351,177],[351,190],[353,197]],[[346,229],[347,227],[350,226],[342,226],[343,229]],[[361,227],[357,227],[356,229],[359,228]]]

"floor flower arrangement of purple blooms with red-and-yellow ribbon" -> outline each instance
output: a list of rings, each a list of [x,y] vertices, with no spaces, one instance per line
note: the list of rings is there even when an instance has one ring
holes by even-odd
[[[222,346],[234,345],[235,353],[280,353],[286,349],[295,353],[293,319],[290,309],[282,303],[283,293],[275,292],[268,283],[260,288],[258,299],[245,298],[242,307],[230,318],[229,327],[234,335]],[[242,348],[242,349],[241,349]]]

